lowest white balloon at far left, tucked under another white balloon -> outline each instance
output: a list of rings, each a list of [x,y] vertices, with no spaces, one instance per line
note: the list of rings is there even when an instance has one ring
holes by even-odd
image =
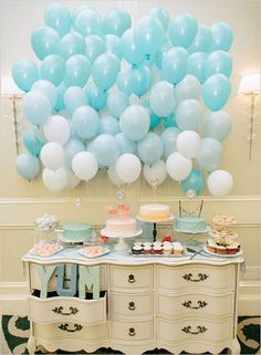
[[[67,185],[67,173],[65,168],[56,170],[43,169],[42,179],[44,186],[53,192],[62,191]]]

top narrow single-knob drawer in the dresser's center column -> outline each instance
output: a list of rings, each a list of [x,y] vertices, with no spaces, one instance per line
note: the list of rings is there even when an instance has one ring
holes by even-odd
[[[153,267],[111,267],[111,288],[127,292],[153,288]]]

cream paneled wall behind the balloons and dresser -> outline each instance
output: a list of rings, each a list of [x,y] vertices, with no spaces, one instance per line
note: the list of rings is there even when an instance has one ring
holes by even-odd
[[[43,23],[44,8],[51,1],[1,1],[1,76],[10,76],[12,63],[21,58],[34,59],[30,48],[32,31]],[[156,4],[165,7],[171,17],[180,12],[191,12],[199,22],[211,25],[218,21],[228,22],[234,31],[234,42],[231,49],[233,56],[233,73],[231,76],[232,95],[226,106],[230,113],[233,128],[223,143],[223,159],[221,168],[228,169],[234,177],[234,187],[226,198],[212,198],[206,191],[203,215],[210,219],[215,212],[228,212],[238,220],[237,230],[242,242],[248,274],[252,285],[255,285],[260,270],[260,125],[255,125],[252,160],[248,159],[249,142],[248,118],[249,103],[237,95],[240,75],[260,70],[261,11],[260,1],[254,0],[178,0],[178,1],[63,1],[73,9],[83,3],[91,3],[98,12],[105,12],[114,7],[123,6],[134,18],[145,14]],[[24,122],[19,107],[19,125],[21,132]],[[260,123],[260,100],[257,106],[257,117]],[[12,285],[24,282],[22,273],[22,254],[32,246],[32,228],[35,217],[44,212],[59,216],[61,222],[86,220],[103,225],[106,216],[104,203],[116,202],[114,187],[105,177],[105,171],[85,185],[74,190],[65,190],[53,195],[40,180],[28,182],[22,180],[14,170],[15,146],[12,124],[12,106],[8,98],[1,100],[0,117],[0,292],[12,290]],[[133,213],[138,206],[148,201],[167,202],[174,213],[177,213],[179,198],[184,198],[180,189],[173,180],[167,180],[153,194],[152,188],[142,179],[125,187],[126,202]],[[74,206],[75,198],[82,199],[82,206]],[[201,198],[201,197],[200,197]],[[194,203],[186,201],[187,207]],[[178,236],[182,238],[181,236]],[[255,281],[254,281],[255,280]],[[13,284],[11,284],[12,282]],[[247,281],[246,281],[247,282]],[[23,285],[23,284],[22,284]],[[246,284],[244,284],[246,285]],[[10,289],[9,289],[10,286]],[[10,291],[11,292],[11,291]],[[249,291],[251,293],[251,291]],[[247,291],[248,293],[248,291]]]

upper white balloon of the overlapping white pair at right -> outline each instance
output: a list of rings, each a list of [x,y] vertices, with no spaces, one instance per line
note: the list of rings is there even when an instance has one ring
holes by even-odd
[[[177,137],[177,150],[185,158],[195,158],[201,146],[200,136],[195,130],[184,130]]]

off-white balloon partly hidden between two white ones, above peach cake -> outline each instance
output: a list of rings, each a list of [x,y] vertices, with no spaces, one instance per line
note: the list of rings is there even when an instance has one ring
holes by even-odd
[[[152,186],[161,185],[167,178],[167,169],[164,160],[158,160],[154,165],[144,165],[143,175],[145,180]]]

